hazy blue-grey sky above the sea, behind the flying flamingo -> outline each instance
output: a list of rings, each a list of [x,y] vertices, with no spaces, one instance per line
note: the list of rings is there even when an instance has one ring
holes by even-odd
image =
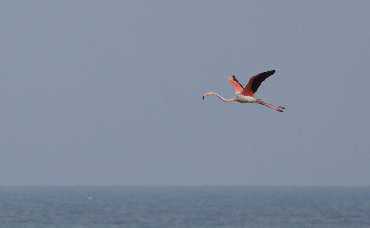
[[[2,1],[0,185],[370,185],[370,1]],[[257,98],[226,103],[257,73]]]

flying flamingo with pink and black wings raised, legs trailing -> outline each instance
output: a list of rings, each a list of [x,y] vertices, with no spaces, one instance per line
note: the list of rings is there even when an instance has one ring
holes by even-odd
[[[249,79],[248,84],[245,86],[245,88],[243,88],[243,86],[238,82],[238,79],[236,79],[235,76],[230,76],[228,78],[228,81],[231,83],[231,85],[234,87],[234,90],[235,90],[235,95],[232,99],[224,99],[223,97],[221,97],[217,93],[206,92],[203,95],[203,100],[206,96],[216,95],[219,98],[221,98],[221,100],[226,101],[226,102],[238,101],[240,103],[258,103],[258,104],[262,104],[266,107],[272,108],[273,110],[282,112],[283,110],[281,110],[281,109],[285,109],[284,107],[275,106],[273,104],[266,103],[265,101],[262,101],[261,99],[256,99],[256,97],[255,97],[255,93],[258,90],[258,87],[260,86],[260,84],[266,78],[273,75],[274,73],[275,73],[275,70],[270,70],[270,71],[259,73],[258,75],[255,75],[255,76],[251,77]],[[273,107],[276,107],[276,108],[273,108],[273,107],[270,107],[270,106],[273,106]],[[278,108],[281,108],[281,109],[278,109]]]

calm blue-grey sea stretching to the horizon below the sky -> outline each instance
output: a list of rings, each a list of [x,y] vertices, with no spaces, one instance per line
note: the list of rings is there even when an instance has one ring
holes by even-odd
[[[1,228],[370,227],[370,187],[0,186]]]

